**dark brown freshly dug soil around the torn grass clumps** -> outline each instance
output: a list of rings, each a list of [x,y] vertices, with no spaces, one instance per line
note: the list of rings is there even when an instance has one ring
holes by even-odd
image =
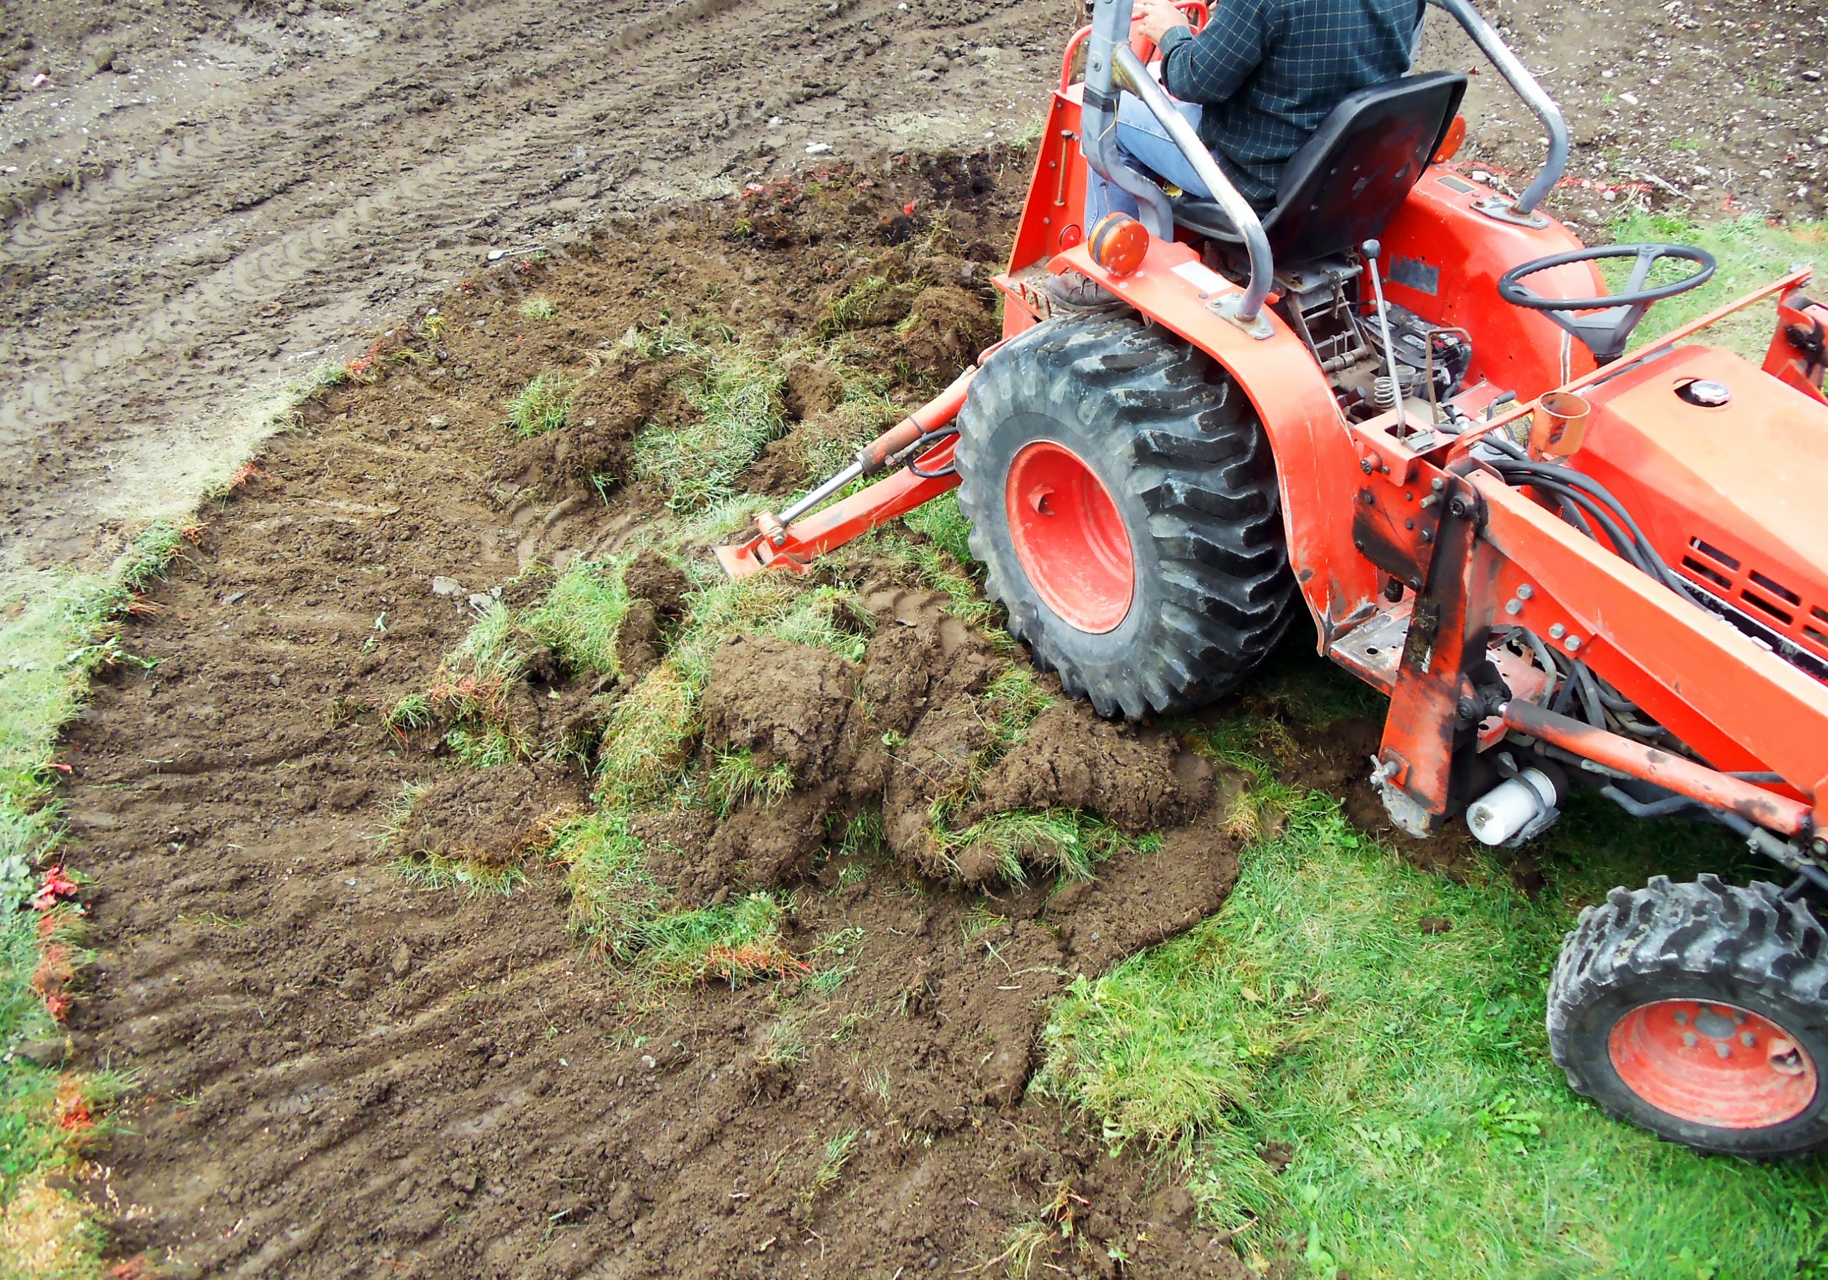
[[[377,711],[433,678],[473,620],[466,594],[612,552],[658,508],[640,485],[607,505],[569,492],[565,459],[601,433],[581,415],[554,433],[567,448],[532,443],[541,475],[508,444],[505,388],[589,368],[662,289],[804,333],[845,283],[821,263],[881,254],[916,192],[951,194],[952,234],[987,254],[1020,185],[993,179],[989,161],[834,174],[779,201],[766,245],[731,234],[755,208],[731,203],[622,227],[563,269],[497,272],[444,307],[435,366],[391,362],[313,404],[208,510],[130,625],[155,669],[113,673],[66,755],[69,859],[95,876],[101,936],[79,1061],[139,1081],[93,1187],[122,1256],[174,1276],[887,1278],[996,1273],[1015,1243],[1064,1275],[1117,1275],[1119,1256],[1122,1275],[1243,1275],[1183,1189],[1024,1101],[1047,998],[1223,901],[1238,861],[1214,768],[1057,708],[980,803],[1099,805],[1164,828],[1159,848],[1053,896],[1038,878],[985,874],[980,892],[923,874],[940,867],[903,816],[976,741],[958,695],[991,669],[932,591],[872,591],[854,667],[766,636],[728,645],[706,744],[782,763],[797,788],[702,839],[671,832],[684,852],[651,843],[682,901],[792,891],[784,936],[819,982],[656,991],[569,934],[567,887],[537,861],[510,894],[389,869],[415,848],[506,865],[589,806],[576,764],[470,770]],[[755,283],[779,271],[802,287]],[[517,315],[536,287],[565,316],[556,336]],[[963,293],[987,320],[982,283]],[[930,336],[898,320],[870,331],[888,366],[898,336]],[[653,382],[614,368],[625,391]],[[801,379],[799,397],[817,388]],[[664,388],[632,399],[669,411]],[[503,488],[528,468],[537,490]],[[629,587],[631,618],[684,607],[684,580],[651,558]],[[664,649],[664,627],[645,635]],[[552,708],[590,693],[552,678]],[[550,733],[565,713],[526,715]],[[892,761],[870,750],[885,731],[907,735]],[[409,783],[428,790],[384,850]],[[857,801],[883,806],[887,848],[837,854],[819,819]],[[1024,1225],[1038,1231],[1015,1238]]]

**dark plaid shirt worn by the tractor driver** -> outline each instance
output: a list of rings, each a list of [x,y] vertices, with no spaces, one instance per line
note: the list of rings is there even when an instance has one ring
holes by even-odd
[[[1258,208],[1349,93],[1409,69],[1422,0],[1214,0],[1199,35],[1161,42],[1161,82],[1199,102],[1199,137]]]

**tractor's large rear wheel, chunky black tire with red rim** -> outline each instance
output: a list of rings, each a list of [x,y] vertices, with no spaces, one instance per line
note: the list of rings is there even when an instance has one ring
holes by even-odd
[[[1047,320],[993,355],[958,475],[1011,635],[1100,715],[1219,699],[1296,613],[1263,424],[1223,368],[1133,313]]]

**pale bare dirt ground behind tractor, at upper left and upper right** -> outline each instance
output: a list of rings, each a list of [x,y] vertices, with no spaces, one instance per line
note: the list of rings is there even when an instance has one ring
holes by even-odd
[[[1583,185],[1821,216],[1810,0],[1490,16],[1565,102]],[[1075,0],[0,2],[0,580],[183,510],[325,353],[618,208],[1031,128]],[[1429,18],[1422,64],[1481,68]],[[1481,69],[1475,146],[1536,163]]]

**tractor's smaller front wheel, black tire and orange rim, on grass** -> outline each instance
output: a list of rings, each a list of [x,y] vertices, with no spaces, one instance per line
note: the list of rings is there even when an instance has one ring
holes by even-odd
[[[1828,931],[1777,885],[1614,889],[1568,933],[1548,1048],[1576,1092],[1684,1147],[1828,1147]]]

